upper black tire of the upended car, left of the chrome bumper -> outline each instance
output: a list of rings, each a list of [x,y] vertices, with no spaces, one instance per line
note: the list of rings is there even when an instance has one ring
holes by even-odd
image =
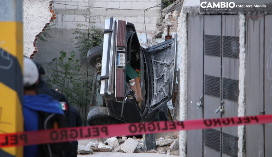
[[[87,53],[88,64],[95,68],[97,63],[102,63],[103,45],[91,48]]]

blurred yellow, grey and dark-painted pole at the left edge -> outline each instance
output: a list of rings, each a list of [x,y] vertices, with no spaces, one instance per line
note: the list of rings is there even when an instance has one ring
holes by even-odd
[[[23,0],[0,0],[0,134],[23,131],[22,10]],[[3,147],[0,156],[22,157],[23,147]]]

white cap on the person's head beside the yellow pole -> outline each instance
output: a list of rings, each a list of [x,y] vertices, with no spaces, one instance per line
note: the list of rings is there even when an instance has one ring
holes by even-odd
[[[39,72],[36,64],[29,58],[23,57],[23,86],[34,85],[39,78]]]

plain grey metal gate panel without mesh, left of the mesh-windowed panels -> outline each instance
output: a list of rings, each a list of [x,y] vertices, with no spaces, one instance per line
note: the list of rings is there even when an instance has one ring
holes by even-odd
[[[188,17],[187,119],[203,118],[202,108],[196,105],[203,94],[203,28],[203,16]],[[202,130],[187,132],[187,156],[202,156]]]

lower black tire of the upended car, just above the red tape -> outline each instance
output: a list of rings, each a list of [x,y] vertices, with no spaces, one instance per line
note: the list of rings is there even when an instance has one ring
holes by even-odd
[[[108,125],[117,123],[120,123],[120,121],[108,115],[107,107],[97,107],[92,109],[87,117],[88,125]]]

